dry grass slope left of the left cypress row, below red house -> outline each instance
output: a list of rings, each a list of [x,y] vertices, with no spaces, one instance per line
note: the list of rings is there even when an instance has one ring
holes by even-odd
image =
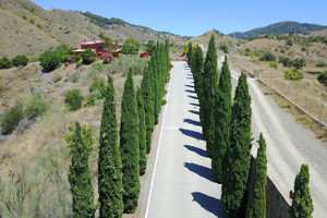
[[[135,60],[131,60],[131,62]],[[68,68],[62,66],[51,73],[44,74],[38,63],[29,63],[22,69],[13,68],[1,71],[1,81],[7,84],[5,89],[1,93],[1,113],[5,108],[13,105],[15,98],[22,97],[26,99],[29,96],[31,89],[38,89],[46,93],[46,99],[51,104],[51,109],[46,116],[38,118],[24,134],[13,132],[4,143],[0,144],[0,195],[7,192],[1,190],[1,185],[11,184],[13,187],[15,186],[9,175],[12,173],[15,175],[21,174],[20,170],[24,168],[26,172],[31,172],[31,177],[26,178],[26,180],[33,184],[31,192],[28,192],[28,197],[26,197],[28,201],[28,204],[26,203],[28,207],[25,208],[26,213],[31,213],[35,204],[39,204],[39,199],[35,198],[37,196],[37,186],[35,185],[41,184],[41,189],[44,189],[41,199],[48,202],[48,204],[40,204],[43,215],[50,217],[49,213],[56,210],[56,213],[53,211],[53,216],[70,217],[71,194],[68,182],[70,156],[68,155],[69,149],[64,138],[69,133],[69,126],[73,125],[75,121],[93,126],[95,144],[94,152],[90,155],[90,168],[94,175],[95,189],[97,189],[97,137],[100,130],[102,105],[69,111],[64,105],[64,93],[69,89],[80,88],[81,94],[85,97],[84,100],[86,100],[87,96],[89,96],[88,86],[93,78],[98,76],[107,81],[107,73],[110,72],[111,66],[113,64],[106,65],[102,69],[94,68],[93,65],[83,65],[75,69],[74,64],[71,64]],[[126,69],[123,68],[123,64],[121,64],[120,69],[122,71],[117,71],[112,75],[116,88],[118,120],[120,120],[122,90],[126,75]],[[73,73],[80,74],[80,80],[75,83],[71,81]],[[17,75],[22,76],[17,77]],[[63,77],[53,84],[52,78],[55,75],[62,75]],[[135,84],[141,84],[142,76],[142,73],[134,76]],[[53,159],[55,162],[51,160],[53,158],[51,156],[56,157]],[[46,164],[50,166],[44,167]],[[58,168],[57,179],[60,179],[60,184],[53,183],[50,175],[43,175],[50,173],[51,170],[56,170],[56,166]],[[39,177],[41,179],[37,182],[36,180]],[[52,180],[55,179],[52,178]],[[58,193],[64,194],[64,198],[60,198]],[[97,198],[97,192],[95,194]],[[65,207],[61,207],[60,205],[65,205]],[[64,208],[66,209],[65,216],[63,216]],[[33,217],[32,215],[25,215],[25,217]]]

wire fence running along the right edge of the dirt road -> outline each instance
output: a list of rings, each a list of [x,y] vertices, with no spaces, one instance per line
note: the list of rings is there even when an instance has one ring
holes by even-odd
[[[310,116],[319,128],[327,126],[327,107],[315,96],[305,93],[305,87],[296,87],[289,81],[276,78],[276,75],[264,74],[255,69],[250,70],[239,63],[238,65],[252,77],[271,87],[276,94],[293,104],[299,112]]]

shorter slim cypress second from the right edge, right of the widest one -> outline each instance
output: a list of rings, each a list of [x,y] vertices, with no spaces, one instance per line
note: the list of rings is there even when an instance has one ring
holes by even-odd
[[[258,140],[259,148],[253,162],[251,183],[249,187],[249,202],[246,218],[266,217],[266,185],[267,185],[267,156],[266,142],[263,133]]]

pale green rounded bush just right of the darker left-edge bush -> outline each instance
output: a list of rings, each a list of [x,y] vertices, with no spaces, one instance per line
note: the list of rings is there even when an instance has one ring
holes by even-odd
[[[50,104],[40,95],[33,93],[26,102],[25,114],[28,119],[45,114],[50,108]]]

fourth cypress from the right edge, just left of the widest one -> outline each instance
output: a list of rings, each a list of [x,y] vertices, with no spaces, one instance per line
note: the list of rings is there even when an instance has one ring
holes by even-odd
[[[218,183],[221,183],[223,157],[227,148],[230,146],[231,90],[231,74],[227,57],[225,57],[217,90],[218,100],[216,101],[215,107],[216,133],[211,159],[213,175]]]

